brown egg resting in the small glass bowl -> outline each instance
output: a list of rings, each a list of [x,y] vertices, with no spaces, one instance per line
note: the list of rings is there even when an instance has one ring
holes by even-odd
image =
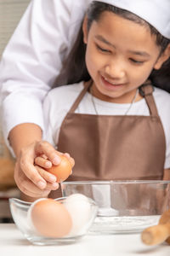
[[[31,206],[31,222],[37,232],[47,237],[63,237],[72,227],[71,215],[65,206],[53,199],[41,199]]]

